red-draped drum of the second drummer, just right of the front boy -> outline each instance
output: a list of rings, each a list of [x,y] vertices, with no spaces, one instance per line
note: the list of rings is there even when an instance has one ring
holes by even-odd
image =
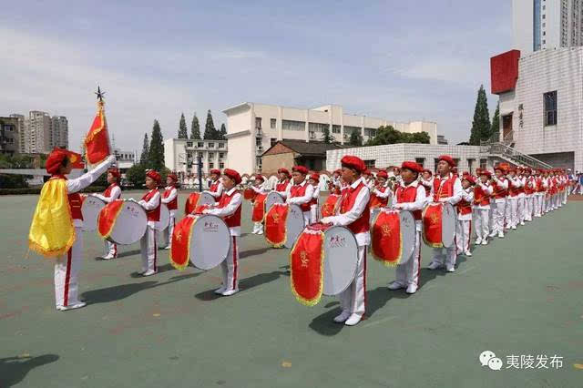
[[[379,209],[371,228],[371,251],[386,266],[404,264],[415,249],[415,219],[408,210]]]

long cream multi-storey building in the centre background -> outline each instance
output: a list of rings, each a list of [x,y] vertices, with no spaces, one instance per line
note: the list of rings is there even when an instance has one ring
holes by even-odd
[[[434,122],[402,123],[349,115],[338,105],[301,109],[244,102],[223,110],[223,113],[227,115],[228,165],[237,168],[241,174],[261,171],[261,154],[278,140],[322,140],[325,127],[330,128],[332,137],[341,144],[348,142],[353,131],[358,131],[366,141],[375,135],[377,128],[389,125],[406,133],[425,131],[431,144],[437,144],[437,124]]]

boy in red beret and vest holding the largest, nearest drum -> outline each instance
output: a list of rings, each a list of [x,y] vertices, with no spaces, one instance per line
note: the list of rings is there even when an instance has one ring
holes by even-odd
[[[366,169],[361,158],[346,155],[341,159],[343,180],[348,185],[338,207],[338,215],[324,217],[322,223],[348,227],[358,244],[356,275],[351,285],[340,294],[342,313],[334,322],[353,326],[361,322],[366,311],[366,247],[371,243],[369,189],[361,174]]]

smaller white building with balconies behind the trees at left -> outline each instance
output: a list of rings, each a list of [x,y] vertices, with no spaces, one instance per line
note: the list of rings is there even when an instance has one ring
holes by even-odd
[[[166,168],[186,176],[197,175],[197,159],[201,158],[202,173],[208,175],[212,168],[227,168],[227,140],[197,140],[167,138],[164,140],[164,164]],[[232,166],[232,165],[231,165]],[[240,170],[237,165],[233,168]]]

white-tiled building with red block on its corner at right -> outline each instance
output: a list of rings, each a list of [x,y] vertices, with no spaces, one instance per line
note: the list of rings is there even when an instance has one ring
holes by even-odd
[[[583,171],[583,47],[498,57],[492,92],[500,98],[502,141],[553,167]]]

